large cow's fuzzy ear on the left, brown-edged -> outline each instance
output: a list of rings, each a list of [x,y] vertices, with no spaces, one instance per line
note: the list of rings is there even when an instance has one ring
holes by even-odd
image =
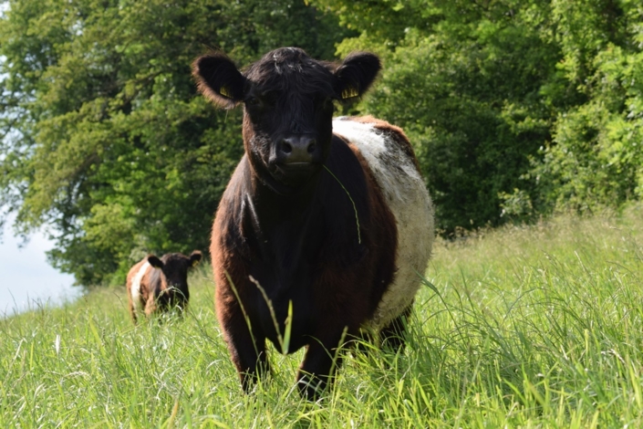
[[[202,94],[223,108],[233,108],[244,99],[245,78],[223,53],[196,58],[192,76]]]

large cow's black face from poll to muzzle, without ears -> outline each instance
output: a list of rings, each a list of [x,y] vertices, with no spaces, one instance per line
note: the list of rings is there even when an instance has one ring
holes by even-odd
[[[264,183],[306,183],[330,152],[337,78],[296,48],[271,52],[244,78],[244,144],[254,171]]]

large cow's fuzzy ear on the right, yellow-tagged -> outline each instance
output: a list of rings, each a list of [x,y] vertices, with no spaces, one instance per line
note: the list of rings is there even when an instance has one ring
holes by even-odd
[[[353,52],[335,70],[341,99],[356,99],[363,95],[378,76],[379,58],[368,52]]]

